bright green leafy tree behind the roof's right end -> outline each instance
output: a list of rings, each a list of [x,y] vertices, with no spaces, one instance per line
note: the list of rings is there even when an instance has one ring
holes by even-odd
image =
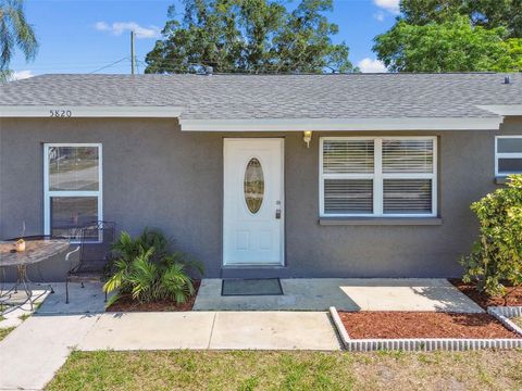
[[[522,39],[504,27],[473,26],[467,16],[423,25],[399,20],[375,38],[377,58],[396,72],[522,71]]]

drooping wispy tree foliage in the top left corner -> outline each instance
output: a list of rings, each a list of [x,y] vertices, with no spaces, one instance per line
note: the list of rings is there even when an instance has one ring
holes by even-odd
[[[14,50],[21,49],[26,61],[38,51],[33,27],[27,23],[23,0],[0,0],[0,78],[9,75]]]

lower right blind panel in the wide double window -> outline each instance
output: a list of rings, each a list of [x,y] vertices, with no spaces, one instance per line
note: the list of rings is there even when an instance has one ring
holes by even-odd
[[[431,179],[384,179],[385,214],[432,213]]]

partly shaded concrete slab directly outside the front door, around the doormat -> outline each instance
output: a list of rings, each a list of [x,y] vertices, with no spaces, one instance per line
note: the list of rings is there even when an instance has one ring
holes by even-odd
[[[195,311],[483,312],[445,279],[282,279],[284,295],[222,297],[221,279],[203,279]]]

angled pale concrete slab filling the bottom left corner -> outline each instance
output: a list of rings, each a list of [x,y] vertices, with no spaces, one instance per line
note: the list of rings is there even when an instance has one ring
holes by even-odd
[[[0,390],[41,390],[98,316],[34,315],[0,342]]]

